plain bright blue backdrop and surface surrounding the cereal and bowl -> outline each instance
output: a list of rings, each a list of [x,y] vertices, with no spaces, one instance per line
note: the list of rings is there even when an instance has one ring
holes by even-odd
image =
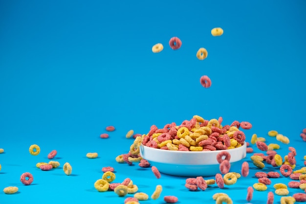
[[[304,166],[306,143],[299,135],[306,128],[305,8],[304,0],[0,0],[0,148],[5,150],[0,189],[19,187],[14,195],[1,191],[0,204],[31,199],[122,204],[125,198],[94,189],[103,166],[115,168],[115,181],[129,177],[149,196],[163,185],[160,199],[141,203],[160,204],[165,195],[177,196],[181,204],[190,198],[194,204],[213,203],[216,192],[247,203],[256,168],[226,189],[189,192],[186,178],[156,180],[150,169],[114,159],[129,151],[130,129],[146,134],[153,124],[179,124],[197,114],[222,116],[224,125],[251,122],[253,128],[244,131],[247,141],[256,133],[277,143],[267,136],[275,129],[290,138],[297,167]],[[214,27],[224,34],[213,37]],[[168,44],[174,36],[182,41],[178,50]],[[152,52],[156,43],[164,45],[162,52]],[[196,57],[200,47],[208,50],[203,61]],[[202,75],[211,78],[209,89],[200,85]],[[116,131],[101,139],[108,125]],[[41,147],[39,156],[28,153],[31,144]],[[282,156],[289,145],[282,144]],[[37,169],[53,149],[61,167]],[[87,159],[87,152],[99,158]],[[65,162],[72,165],[72,176],[61,169]],[[23,186],[20,175],[27,171],[34,182]],[[273,183],[282,180],[290,181]],[[255,191],[251,203],[265,203],[273,183],[265,192]],[[290,189],[289,195],[296,192],[302,191]]]

